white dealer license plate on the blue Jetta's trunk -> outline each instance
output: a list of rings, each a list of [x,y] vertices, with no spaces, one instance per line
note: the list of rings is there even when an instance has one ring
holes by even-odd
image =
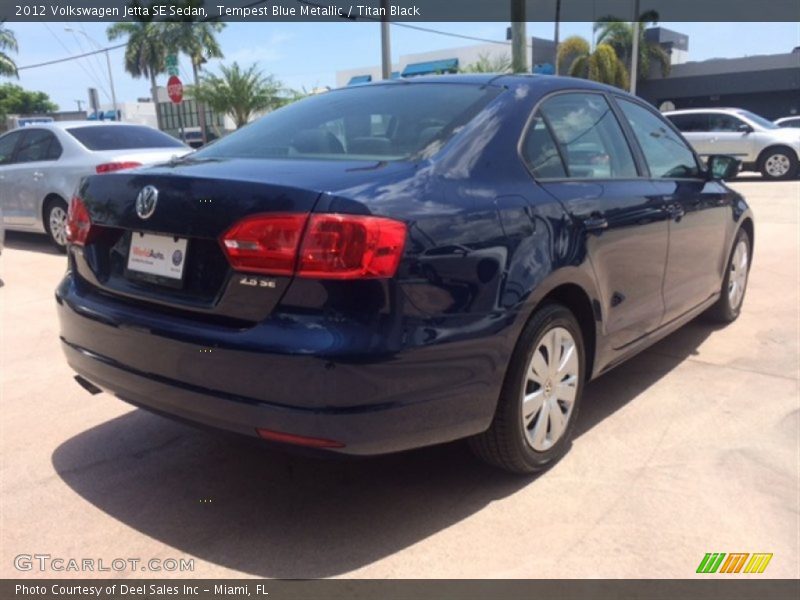
[[[125,276],[172,288],[183,286],[189,240],[171,235],[131,232]]]

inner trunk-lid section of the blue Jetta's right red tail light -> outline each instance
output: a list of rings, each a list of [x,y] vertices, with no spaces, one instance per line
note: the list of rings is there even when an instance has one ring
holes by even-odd
[[[222,236],[234,269],[291,275],[307,214],[255,215],[239,221]]]

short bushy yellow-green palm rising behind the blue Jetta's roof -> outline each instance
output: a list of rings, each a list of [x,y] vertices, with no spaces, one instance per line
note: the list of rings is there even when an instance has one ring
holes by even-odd
[[[609,44],[598,44],[592,51],[589,42],[574,35],[565,39],[558,48],[559,72],[570,77],[581,77],[626,89],[628,70]]]

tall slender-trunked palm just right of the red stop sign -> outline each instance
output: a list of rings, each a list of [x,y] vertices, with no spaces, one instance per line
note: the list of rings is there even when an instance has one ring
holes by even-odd
[[[173,2],[176,6],[183,9],[200,8],[203,0],[178,0]],[[193,11],[183,11],[191,15]],[[198,21],[195,17],[187,16],[183,19],[172,21],[166,24],[167,38],[170,40],[170,49],[173,52],[183,52],[192,62],[192,76],[194,85],[200,83],[200,67],[203,63],[212,58],[222,58],[222,48],[217,41],[217,34],[225,28],[225,23],[219,21],[202,20]],[[198,122],[206,142],[206,111],[203,103],[197,102]]]

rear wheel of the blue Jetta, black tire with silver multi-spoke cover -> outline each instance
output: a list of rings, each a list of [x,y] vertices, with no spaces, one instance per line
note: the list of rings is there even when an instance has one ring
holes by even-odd
[[[547,348],[551,342],[558,347],[553,353],[558,361],[550,361]],[[567,360],[570,351],[572,358]],[[549,370],[556,363],[564,368]],[[512,473],[536,473],[553,465],[571,443],[586,379],[585,365],[583,335],[575,316],[561,304],[538,309],[517,343],[491,426],[470,438],[473,452]],[[563,381],[561,385],[559,380]],[[529,398],[527,404],[524,394]],[[543,412],[546,407],[551,408]],[[523,409],[527,416],[523,416]],[[557,414],[563,418],[561,427],[552,419]]]

